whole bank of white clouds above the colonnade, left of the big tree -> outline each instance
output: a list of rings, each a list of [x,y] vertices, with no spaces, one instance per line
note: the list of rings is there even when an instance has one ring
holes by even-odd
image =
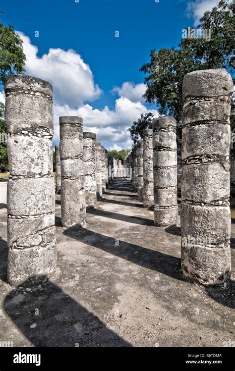
[[[158,111],[144,106],[142,95],[144,84],[126,81],[115,87],[118,94],[114,109],[105,106],[94,108],[90,103],[98,99],[102,90],[94,82],[92,71],[82,57],[73,50],[49,49],[47,54],[38,56],[38,48],[30,39],[18,32],[23,40],[26,54],[26,74],[49,81],[53,85],[54,99],[54,144],[59,143],[59,116],[83,117],[84,131],[96,133],[97,140],[108,150],[130,149],[130,133],[127,130],[141,113]],[[0,92],[0,102],[4,96]]]

